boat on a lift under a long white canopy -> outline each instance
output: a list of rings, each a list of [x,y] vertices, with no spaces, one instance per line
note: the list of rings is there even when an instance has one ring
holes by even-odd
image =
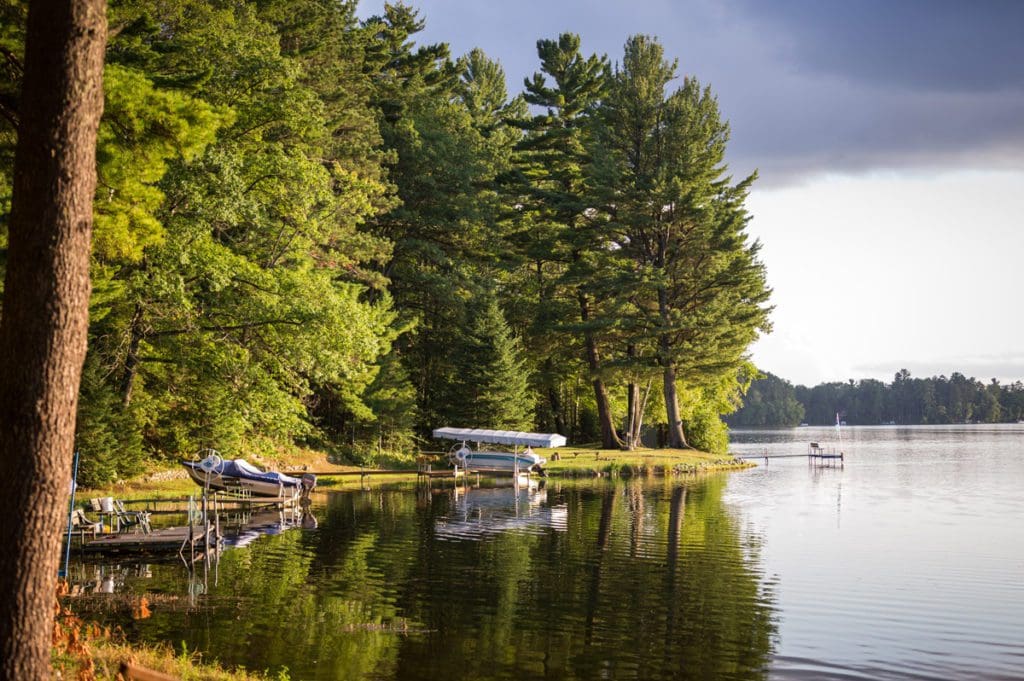
[[[535,446],[564,446],[565,436],[558,433],[527,433],[516,430],[486,430],[483,428],[435,428],[436,439],[461,442],[449,453],[449,462],[466,470],[501,473],[543,472],[547,459],[534,453]],[[477,444],[476,450],[469,442]],[[480,450],[480,444],[512,445],[512,452]],[[519,448],[525,448],[519,451]]]

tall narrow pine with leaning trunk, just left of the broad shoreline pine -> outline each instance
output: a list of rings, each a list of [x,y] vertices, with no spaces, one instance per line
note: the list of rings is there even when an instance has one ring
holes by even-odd
[[[588,179],[590,120],[606,61],[584,57],[580,37],[570,33],[539,40],[537,51],[541,71],[525,81],[524,97],[543,112],[518,123],[525,137],[516,156],[521,224],[513,244],[528,263],[523,283],[535,296],[535,348],[543,356],[543,389],[555,423],[561,418],[556,366],[565,366],[560,355],[577,340],[594,390],[601,444],[616,448],[622,441],[601,343],[608,325],[601,311],[605,292],[597,285],[606,242],[592,212]]]

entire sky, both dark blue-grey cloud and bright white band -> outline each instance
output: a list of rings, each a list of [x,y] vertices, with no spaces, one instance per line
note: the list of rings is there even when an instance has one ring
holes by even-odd
[[[656,36],[711,85],[774,293],[754,361],[794,383],[1024,380],[1024,1],[418,0],[420,43],[509,89],[569,31]],[[379,13],[365,0],[359,13]],[[680,78],[681,80],[681,78]]]

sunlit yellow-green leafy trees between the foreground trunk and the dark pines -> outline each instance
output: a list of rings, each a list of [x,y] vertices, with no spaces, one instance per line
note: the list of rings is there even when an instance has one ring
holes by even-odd
[[[359,29],[349,5],[284,9],[112,7],[90,334],[105,385],[83,402],[85,451],[118,419],[136,460],[287,445],[315,434],[314,391],[374,418],[364,396],[397,329],[390,297],[368,298],[388,245],[358,230],[392,205],[369,76],[357,51],[298,48]]]

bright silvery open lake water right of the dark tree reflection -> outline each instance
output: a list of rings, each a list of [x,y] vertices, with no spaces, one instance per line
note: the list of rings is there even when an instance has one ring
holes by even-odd
[[[786,455],[831,434],[736,431],[732,449]],[[779,576],[771,676],[1024,679],[1024,426],[843,438],[843,470],[781,459],[729,481]]]

